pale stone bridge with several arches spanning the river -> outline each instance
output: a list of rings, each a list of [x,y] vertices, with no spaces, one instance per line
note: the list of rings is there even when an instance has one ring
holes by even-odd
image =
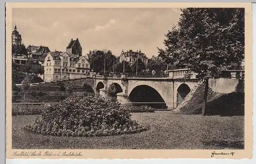
[[[168,72],[166,78],[128,77],[128,74],[124,73],[119,78],[87,77],[69,80],[65,83],[72,82],[76,86],[87,83],[92,86],[95,95],[116,98],[122,106],[151,104],[156,108],[175,109],[186,95],[198,86],[199,80],[196,79],[196,74],[192,73],[190,79],[183,82],[181,78],[184,77],[187,69],[174,69]],[[237,73],[241,74],[241,72]],[[236,78],[237,73],[231,78]],[[114,96],[107,93],[111,84],[117,88]]]

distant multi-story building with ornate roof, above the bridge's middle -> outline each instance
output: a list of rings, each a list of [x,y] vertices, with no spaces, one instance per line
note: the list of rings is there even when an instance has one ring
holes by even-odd
[[[137,58],[140,58],[145,64],[147,64],[148,58],[144,53],[141,53],[141,51],[138,52],[138,50],[137,52],[134,52],[133,50],[127,52],[122,51],[121,55],[119,56],[119,61],[122,62],[124,60],[132,64],[137,61]]]

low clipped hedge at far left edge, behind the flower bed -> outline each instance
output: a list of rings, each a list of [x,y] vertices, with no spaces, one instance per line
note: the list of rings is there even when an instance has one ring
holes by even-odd
[[[24,107],[15,107],[12,108],[12,115],[36,115],[41,114],[42,109],[37,108],[24,108]]]

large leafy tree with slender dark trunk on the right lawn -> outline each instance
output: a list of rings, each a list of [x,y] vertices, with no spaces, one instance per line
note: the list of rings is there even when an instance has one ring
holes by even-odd
[[[206,115],[208,79],[240,65],[244,59],[244,8],[182,9],[178,26],[165,34],[159,55],[178,61],[205,84],[202,114]]]

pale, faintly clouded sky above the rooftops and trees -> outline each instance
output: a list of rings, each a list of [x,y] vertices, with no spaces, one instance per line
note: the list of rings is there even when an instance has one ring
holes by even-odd
[[[158,55],[157,46],[164,48],[164,34],[180,13],[179,8],[14,8],[12,29],[16,24],[26,47],[66,51],[70,40],[78,38],[82,55],[106,49],[119,56],[122,49],[132,49],[151,58]]]

